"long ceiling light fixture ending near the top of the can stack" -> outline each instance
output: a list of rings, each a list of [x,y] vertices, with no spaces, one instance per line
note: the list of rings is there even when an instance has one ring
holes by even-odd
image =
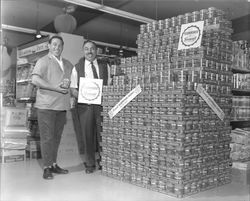
[[[112,8],[112,7],[109,7],[109,6],[104,6],[102,4],[93,3],[93,2],[87,1],[87,0],[64,0],[64,1],[68,2],[68,3],[71,3],[71,4],[96,9],[96,10],[99,10],[99,11],[102,11],[102,12],[105,12],[105,13],[109,13],[109,14],[112,14],[112,15],[124,17],[124,18],[131,19],[131,20],[134,20],[134,21],[142,22],[142,23],[151,23],[151,22],[155,21],[154,19],[150,19],[150,18],[147,18],[147,17],[143,17],[143,16],[140,16],[140,15],[129,13],[129,12],[119,10],[119,9],[116,9],[116,8]]]

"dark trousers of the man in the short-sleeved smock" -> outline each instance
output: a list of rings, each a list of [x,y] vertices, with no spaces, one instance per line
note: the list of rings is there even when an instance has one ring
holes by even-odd
[[[56,163],[57,152],[66,123],[66,111],[37,110],[41,153],[45,167]]]

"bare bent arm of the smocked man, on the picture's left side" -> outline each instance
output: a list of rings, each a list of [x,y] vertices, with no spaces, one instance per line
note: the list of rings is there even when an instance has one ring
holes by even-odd
[[[62,94],[67,94],[69,92],[68,89],[61,88],[60,86],[57,86],[57,87],[51,86],[48,82],[43,80],[37,74],[33,74],[31,79],[32,79],[32,84],[36,85],[37,87],[41,89],[55,91],[55,92],[62,93]]]

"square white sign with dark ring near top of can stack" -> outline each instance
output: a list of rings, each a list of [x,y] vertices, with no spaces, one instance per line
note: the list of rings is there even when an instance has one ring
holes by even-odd
[[[200,47],[203,28],[204,21],[181,25],[178,50]]]

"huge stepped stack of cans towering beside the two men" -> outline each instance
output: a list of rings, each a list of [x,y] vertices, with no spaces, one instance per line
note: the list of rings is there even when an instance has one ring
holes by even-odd
[[[181,25],[204,21],[202,44],[177,50]],[[103,88],[102,174],[175,197],[231,181],[231,22],[208,8],[140,26],[138,54],[111,67]],[[225,113],[219,119],[196,92]],[[112,119],[137,85],[142,92]]]

